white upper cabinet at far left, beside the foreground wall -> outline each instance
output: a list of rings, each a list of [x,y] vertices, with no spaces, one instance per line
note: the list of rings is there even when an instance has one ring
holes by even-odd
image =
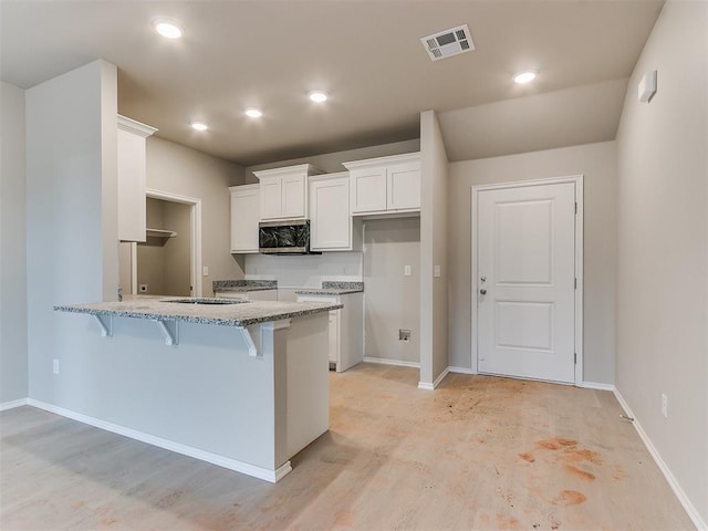
[[[145,138],[157,129],[118,116],[118,240],[145,241]]]

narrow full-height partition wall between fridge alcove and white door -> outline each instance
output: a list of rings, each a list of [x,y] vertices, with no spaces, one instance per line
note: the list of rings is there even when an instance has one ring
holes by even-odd
[[[434,111],[420,113],[420,382],[433,384],[449,365],[448,158]],[[435,268],[440,275],[435,277]]]

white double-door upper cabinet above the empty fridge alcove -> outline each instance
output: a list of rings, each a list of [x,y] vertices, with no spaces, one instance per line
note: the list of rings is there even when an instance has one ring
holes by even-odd
[[[352,215],[420,210],[420,154],[343,163],[350,170]]]

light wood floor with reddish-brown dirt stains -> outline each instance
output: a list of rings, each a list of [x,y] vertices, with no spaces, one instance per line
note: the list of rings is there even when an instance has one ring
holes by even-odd
[[[0,529],[694,529],[611,393],[363,364],[271,485],[55,415],[0,414]]]

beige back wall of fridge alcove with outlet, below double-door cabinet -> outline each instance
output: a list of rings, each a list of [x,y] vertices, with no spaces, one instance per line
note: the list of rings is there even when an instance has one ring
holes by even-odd
[[[366,357],[420,361],[420,218],[364,225],[364,333]],[[410,266],[410,275],[404,275]],[[410,342],[398,330],[410,330]]]

